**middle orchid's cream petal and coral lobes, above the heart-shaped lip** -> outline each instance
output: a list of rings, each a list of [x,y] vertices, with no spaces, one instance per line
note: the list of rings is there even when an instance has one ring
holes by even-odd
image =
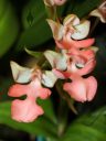
[[[73,54],[73,52],[68,53],[65,50],[63,53],[46,51],[44,55],[56,77],[65,78],[73,74],[81,76],[89,74],[96,65],[95,52],[94,50],[82,50],[78,54]]]

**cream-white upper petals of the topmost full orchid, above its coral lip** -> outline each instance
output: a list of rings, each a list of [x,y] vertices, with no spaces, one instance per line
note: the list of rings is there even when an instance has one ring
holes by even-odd
[[[66,36],[74,40],[82,40],[88,35],[91,22],[88,20],[82,20],[75,14],[68,14],[63,24],[47,19],[47,23],[52,30],[55,41],[61,41]]]

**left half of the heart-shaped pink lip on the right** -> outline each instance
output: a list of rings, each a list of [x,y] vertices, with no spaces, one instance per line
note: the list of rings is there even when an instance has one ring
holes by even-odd
[[[65,83],[63,89],[76,101],[86,101],[86,85],[83,78],[77,78],[72,83]]]

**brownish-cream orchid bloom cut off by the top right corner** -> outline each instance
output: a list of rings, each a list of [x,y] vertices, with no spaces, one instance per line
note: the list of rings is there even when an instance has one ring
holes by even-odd
[[[93,10],[89,15],[97,17],[103,23],[106,23],[106,0],[95,10]]]

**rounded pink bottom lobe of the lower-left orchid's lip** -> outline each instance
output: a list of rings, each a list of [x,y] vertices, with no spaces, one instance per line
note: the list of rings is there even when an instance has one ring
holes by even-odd
[[[12,119],[19,122],[32,122],[43,115],[43,109],[35,104],[35,99],[14,100],[11,106]]]

